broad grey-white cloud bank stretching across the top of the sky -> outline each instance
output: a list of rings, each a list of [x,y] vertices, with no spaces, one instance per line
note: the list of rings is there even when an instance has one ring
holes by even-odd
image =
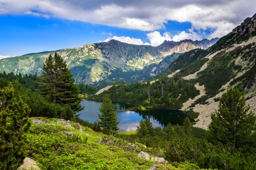
[[[212,28],[209,38],[221,37],[255,13],[255,0],[236,1],[68,1],[0,0],[0,15],[26,14],[105,24],[108,26],[155,31],[168,20],[191,22],[195,30]],[[176,39],[196,38],[193,32],[180,32]]]

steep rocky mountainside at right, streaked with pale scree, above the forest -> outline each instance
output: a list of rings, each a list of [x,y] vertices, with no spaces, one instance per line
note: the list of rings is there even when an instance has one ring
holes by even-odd
[[[208,128],[210,114],[217,110],[219,98],[230,86],[245,94],[246,102],[255,113],[256,14],[208,49],[181,54],[166,72],[171,73],[197,82],[195,87],[200,95],[184,102],[181,108],[200,113],[196,127]]]

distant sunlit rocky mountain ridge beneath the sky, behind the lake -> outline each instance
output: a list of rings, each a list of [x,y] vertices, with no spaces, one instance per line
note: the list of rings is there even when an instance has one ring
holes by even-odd
[[[165,41],[157,47],[110,40],[104,43],[82,45],[73,49],[29,53],[23,56],[2,59],[0,60],[0,72],[41,74],[44,60],[50,53],[57,52],[67,62],[67,67],[71,69],[77,83],[101,86],[105,83],[109,84],[122,80],[126,82],[142,81],[144,79],[138,75],[144,67],[148,67],[151,64],[159,64],[167,56],[169,56],[169,63],[167,63],[169,65],[177,57],[177,55],[172,56],[172,53],[183,53],[195,48],[205,48],[212,45],[217,39],[204,39],[196,42],[192,40]],[[144,70],[148,69],[145,68]],[[163,69],[151,75],[153,76],[162,71]]]

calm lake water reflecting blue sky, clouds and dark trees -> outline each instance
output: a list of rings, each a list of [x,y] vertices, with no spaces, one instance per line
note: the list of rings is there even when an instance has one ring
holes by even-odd
[[[85,106],[85,109],[80,111],[79,118],[88,121],[95,122],[98,119],[98,114],[101,112],[98,110],[101,107],[102,102],[94,101],[81,101],[81,105]],[[135,131],[139,125],[139,121],[144,118],[149,118],[154,127],[164,127],[170,122],[172,125],[183,125],[186,115],[179,110],[150,110],[150,111],[130,111],[131,105],[122,103],[114,103],[115,111],[117,112],[117,119],[120,121],[118,124],[120,132],[123,131]]]

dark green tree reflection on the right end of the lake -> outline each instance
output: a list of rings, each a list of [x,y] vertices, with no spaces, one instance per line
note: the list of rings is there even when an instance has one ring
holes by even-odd
[[[138,111],[143,119],[151,118],[158,121],[162,126],[166,126],[169,122],[172,125],[183,125],[187,117],[182,111],[179,110],[151,110],[151,111]]]

